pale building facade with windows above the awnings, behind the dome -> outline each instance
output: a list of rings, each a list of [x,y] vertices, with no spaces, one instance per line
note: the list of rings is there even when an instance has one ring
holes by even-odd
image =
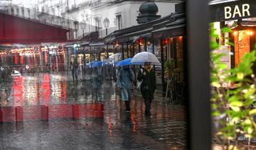
[[[33,0],[31,5],[12,1],[8,13],[23,18],[35,19],[42,23],[70,28],[68,39],[79,40],[92,32],[99,32],[105,37],[114,30],[121,30],[137,25],[139,6],[144,0]],[[174,5],[180,0],[155,1],[159,15],[164,17],[174,12]]]

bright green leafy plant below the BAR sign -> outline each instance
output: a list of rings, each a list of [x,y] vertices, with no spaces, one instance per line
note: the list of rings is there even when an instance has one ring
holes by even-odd
[[[228,28],[222,31],[230,32]],[[213,47],[217,46],[210,43],[210,48]],[[245,54],[238,67],[233,69],[227,69],[220,62],[223,54],[211,53],[210,57],[212,116],[219,125],[214,137],[225,149],[239,149],[238,137],[246,137],[249,143],[250,139],[256,137],[256,123],[253,120],[256,115],[256,78],[252,71],[256,51]]]

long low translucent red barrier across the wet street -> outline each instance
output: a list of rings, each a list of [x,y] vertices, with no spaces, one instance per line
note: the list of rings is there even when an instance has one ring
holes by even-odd
[[[23,122],[26,120],[75,119],[103,117],[103,104],[36,105],[29,107],[1,108],[0,122]]]

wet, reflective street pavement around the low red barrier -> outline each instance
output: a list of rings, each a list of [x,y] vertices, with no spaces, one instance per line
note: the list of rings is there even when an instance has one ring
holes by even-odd
[[[134,90],[132,110],[126,113],[114,86],[112,81],[103,82],[96,98],[90,81],[75,83],[66,74],[17,77],[1,110],[23,108],[23,120],[0,123],[0,149],[186,149],[183,106],[156,98],[152,115],[146,117],[142,98]],[[95,104],[103,108],[95,109]],[[48,120],[24,119],[26,109],[38,105],[48,108]],[[50,109],[60,105],[67,107],[60,108],[67,110],[60,114],[70,112],[70,117],[50,119]],[[74,117],[74,105],[80,105],[80,117]]]

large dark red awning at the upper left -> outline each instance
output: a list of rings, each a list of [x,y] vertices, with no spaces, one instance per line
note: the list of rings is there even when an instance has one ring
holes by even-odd
[[[67,42],[68,30],[25,18],[0,13],[0,44]]]

